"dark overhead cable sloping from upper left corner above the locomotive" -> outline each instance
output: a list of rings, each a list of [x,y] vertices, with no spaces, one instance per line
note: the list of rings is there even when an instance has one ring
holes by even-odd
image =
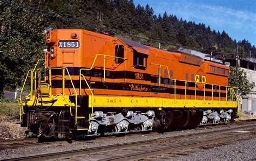
[[[154,40],[154,39],[150,39],[150,38],[144,38],[144,37],[136,36],[134,34],[125,33],[125,32],[118,31],[118,30],[108,29],[106,27],[101,27],[101,26],[85,23],[85,22],[82,22],[82,21],[77,20],[77,19],[63,17],[61,15],[54,15],[53,13],[46,12],[46,11],[39,10],[39,9],[35,9],[35,8],[30,7],[30,6],[25,6],[25,5],[22,5],[22,4],[15,3],[15,2],[10,2],[10,1],[3,0],[3,1],[1,1],[1,3],[8,4],[8,5],[11,5],[11,6],[16,6],[18,8],[22,8],[22,9],[29,10],[29,11],[32,11],[32,12],[40,13],[42,15],[46,15],[46,16],[49,16],[49,17],[52,17],[52,18],[62,19],[62,20],[77,23],[77,24],[80,24],[80,25],[85,25],[85,26],[89,26],[89,27],[92,27],[92,28],[105,30],[105,31],[111,31],[111,32],[114,32],[114,33],[119,33],[119,34],[123,34],[123,35],[126,35],[126,36],[134,37],[134,38],[144,39],[144,40],[148,40],[148,41],[154,41],[154,42],[161,43],[161,44],[166,44],[166,45],[173,45],[173,46],[176,46],[176,47],[184,47],[184,48],[188,48],[190,50],[198,50],[198,51],[202,50],[200,48],[187,47],[187,46],[182,46],[180,44],[167,43],[165,41]],[[215,52],[215,53],[218,53],[218,54],[230,54],[230,55],[236,55],[237,54],[237,53],[233,53],[233,52],[221,52],[221,51],[207,50],[207,49],[204,49],[204,51]]]

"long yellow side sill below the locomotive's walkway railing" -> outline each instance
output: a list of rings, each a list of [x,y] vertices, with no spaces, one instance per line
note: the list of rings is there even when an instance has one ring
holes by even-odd
[[[91,96],[89,96],[91,97]],[[159,97],[93,96],[93,107],[152,107],[152,108],[236,108],[236,101],[166,99]],[[89,98],[89,107],[91,98]]]

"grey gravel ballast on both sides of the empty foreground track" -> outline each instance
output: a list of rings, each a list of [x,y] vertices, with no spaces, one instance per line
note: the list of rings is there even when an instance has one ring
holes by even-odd
[[[252,123],[251,125],[256,124]],[[20,148],[20,149],[8,149],[0,151],[0,159],[9,159],[17,158],[23,156],[34,156],[34,155],[43,155],[46,153],[62,152],[68,150],[78,150],[85,148],[93,148],[98,146],[106,146],[113,144],[121,143],[131,143],[136,141],[145,141],[148,139],[156,139],[163,137],[195,134],[198,132],[205,131],[214,131],[221,129],[229,129],[233,127],[242,127],[246,125],[229,125],[228,127],[221,128],[212,128],[212,129],[196,129],[196,130],[182,130],[182,131],[173,131],[166,132],[164,134],[158,135],[141,135],[134,137],[116,137],[116,138],[107,138],[107,139],[96,139],[89,142],[73,142],[72,144],[62,144],[62,145],[46,145],[46,146],[37,146],[29,148]],[[203,149],[193,149],[193,153],[189,153],[187,156],[170,156],[170,159],[180,159],[180,160],[250,160],[255,159],[256,151],[256,138],[252,138],[248,141],[242,141],[241,143],[234,143],[229,145],[223,145],[216,148],[203,150]],[[86,158],[84,158],[86,160]]]

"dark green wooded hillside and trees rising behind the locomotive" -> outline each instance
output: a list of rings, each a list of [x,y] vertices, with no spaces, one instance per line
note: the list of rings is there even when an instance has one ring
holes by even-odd
[[[198,51],[231,53],[237,52],[240,57],[247,57],[251,51],[256,55],[256,48],[248,40],[234,40],[225,31],[212,30],[203,23],[186,22],[178,19],[175,12],[155,15],[149,6],[134,5],[126,0],[90,0],[90,1],[13,1],[32,8],[55,14],[58,18],[26,11],[14,6],[1,4],[1,64],[0,93],[3,89],[15,90],[21,87],[25,74],[35,65],[38,58],[43,58],[46,48],[44,30],[51,29],[93,29],[77,23],[63,20],[68,17],[82,22],[95,24],[110,29],[135,34],[140,37],[165,41],[167,50],[180,46],[195,48]],[[171,2],[170,2],[171,3]],[[152,46],[158,46],[155,41],[132,38]],[[4,85],[4,86],[3,86]]]

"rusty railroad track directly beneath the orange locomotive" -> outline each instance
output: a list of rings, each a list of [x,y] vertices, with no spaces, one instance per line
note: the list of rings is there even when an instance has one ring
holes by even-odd
[[[256,119],[251,119],[251,120],[240,120],[240,121],[235,121],[232,123],[228,124],[213,124],[213,125],[200,125],[196,129],[200,130],[202,128],[220,128],[220,127],[226,127],[228,125],[242,125],[246,123],[250,123],[256,121]],[[184,129],[182,129],[184,130]],[[170,132],[170,131],[165,131],[165,133]],[[171,131],[172,132],[172,131]],[[135,136],[140,136],[142,133],[135,133],[135,134],[126,134],[125,137],[135,137]],[[149,134],[143,134],[143,135],[159,135],[158,132],[152,131]],[[109,139],[109,138],[116,138],[116,137],[124,137],[122,135],[113,135],[113,136],[105,136],[105,137],[96,137],[96,138],[91,138],[91,139]],[[78,140],[72,140],[74,143],[79,143],[79,142],[88,142],[91,141],[88,139],[78,139]],[[55,142],[43,142],[39,143],[37,138],[29,138],[29,139],[15,139],[15,140],[8,140],[8,141],[1,141],[0,142],[0,150],[6,150],[6,149],[17,149],[17,148],[28,148],[28,147],[33,147],[33,146],[45,146],[45,145],[63,145],[63,144],[68,144],[69,142],[64,140],[60,141],[57,140]]]

